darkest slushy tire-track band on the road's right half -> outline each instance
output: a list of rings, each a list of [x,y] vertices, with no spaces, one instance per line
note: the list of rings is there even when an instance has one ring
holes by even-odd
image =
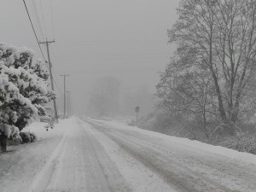
[[[123,131],[109,130],[107,125],[99,125],[90,119],[83,119],[97,130],[101,131],[113,142],[119,144],[126,153],[130,154],[135,159],[143,163],[153,172],[162,177],[166,183],[170,183],[173,187],[176,186],[177,191],[195,192],[235,192],[237,190],[228,189],[227,187],[212,181],[210,178],[205,177],[199,172],[194,172],[186,166],[183,166],[177,161],[173,161],[167,156],[160,153],[159,145],[155,148],[155,144],[142,140],[141,138],[134,137],[134,135]],[[150,146],[150,147],[149,147]],[[152,150],[154,148],[154,150]]]

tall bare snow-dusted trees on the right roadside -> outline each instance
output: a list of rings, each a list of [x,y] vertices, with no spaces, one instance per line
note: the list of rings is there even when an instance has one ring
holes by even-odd
[[[235,136],[255,114],[256,2],[182,0],[168,30],[177,46],[157,84],[159,108],[205,137]]]

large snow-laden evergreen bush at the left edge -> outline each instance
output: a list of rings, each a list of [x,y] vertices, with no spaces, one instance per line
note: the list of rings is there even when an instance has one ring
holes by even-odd
[[[54,98],[44,62],[33,55],[32,49],[0,44],[0,125],[22,130]]]

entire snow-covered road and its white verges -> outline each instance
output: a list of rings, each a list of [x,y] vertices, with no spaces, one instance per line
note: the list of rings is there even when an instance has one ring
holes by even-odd
[[[1,192],[256,192],[253,154],[89,118],[29,129],[0,154]]]

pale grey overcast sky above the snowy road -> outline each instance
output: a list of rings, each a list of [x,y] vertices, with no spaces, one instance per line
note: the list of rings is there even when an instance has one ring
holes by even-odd
[[[63,73],[70,75],[67,89],[72,91],[76,113],[86,111],[91,86],[102,77],[120,79],[130,91],[146,84],[154,93],[158,73],[172,56],[173,45],[167,44],[166,31],[177,20],[178,2],[26,0],[39,40],[55,39],[49,49],[59,102]],[[42,57],[23,2],[0,3],[1,42],[32,48],[36,57]]]

